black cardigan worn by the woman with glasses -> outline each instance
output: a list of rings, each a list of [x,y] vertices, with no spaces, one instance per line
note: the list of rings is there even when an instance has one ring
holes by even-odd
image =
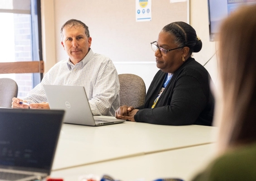
[[[151,82],[145,104],[138,107],[136,122],[162,125],[212,125],[214,99],[208,71],[188,58],[172,75],[157,104],[151,109],[166,73],[159,70]]]

